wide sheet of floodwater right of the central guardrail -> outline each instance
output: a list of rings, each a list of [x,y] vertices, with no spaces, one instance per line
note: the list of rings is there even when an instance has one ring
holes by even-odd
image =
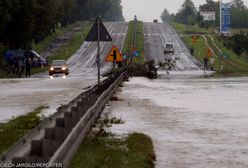
[[[157,168],[248,167],[248,78],[201,76],[131,78],[110,102],[125,123],[110,131],[150,136]]]

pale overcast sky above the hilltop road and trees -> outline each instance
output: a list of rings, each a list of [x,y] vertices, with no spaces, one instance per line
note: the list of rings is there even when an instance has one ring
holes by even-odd
[[[132,20],[134,15],[142,21],[152,22],[153,19],[159,19],[163,10],[166,8],[169,13],[176,13],[185,0],[122,0],[123,15],[126,21]],[[198,8],[206,0],[192,0]],[[231,0],[222,0],[230,2]],[[243,0],[248,6],[248,0]]]

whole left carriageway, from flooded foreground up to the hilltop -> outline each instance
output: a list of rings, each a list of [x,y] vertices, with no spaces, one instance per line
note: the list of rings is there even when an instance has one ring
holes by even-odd
[[[104,23],[113,41],[101,43],[101,72],[105,72],[112,64],[105,63],[106,53],[113,44],[122,48],[127,23]],[[81,48],[70,58],[70,74],[66,77],[48,76],[48,72],[33,75],[26,79],[0,79],[0,123],[12,117],[26,114],[39,106],[48,106],[43,110],[45,115],[56,112],[56,109],[77,97],[88,86],[97,82],[95,66],[96,43],[82,44]]]

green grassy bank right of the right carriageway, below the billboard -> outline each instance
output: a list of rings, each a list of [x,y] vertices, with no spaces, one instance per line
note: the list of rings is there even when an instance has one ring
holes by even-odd
[[[206,45],[206,42],[201,35],[198,36],[196,44],[192,44],[191,34],[188,34],[188,32],[191,32],[196,35],[203,34],[206,37],[207,43],[214,51],[215,70],[217,71],[218,75],[233,74],[237,76],[237,74],[240,74],[240,76],[243,76],[245,74],[248,74],[248,61],[237,56],[232,50],[229,50],[224,47],[223,43],[219,40],[218,35],[211,34],[210,31],[207,32],[207,29],[205,29],[205,32],[207,33],[204,34],[204,29],[198,28],[197,26],[191,26],[191,28],[189,28],[185,25],[178,23],[172,23],[172,25],[178,33],[183,35],[182,40],[184,41],[186,46],[188,48],[194,48],[194,56],[202,63],[203,58],[207,55],[208,46]],[[187,31],[188,29],[192,30]],[[218,48],[222,50],[223,53],[225,53],[225,58],[220,57],[218,49],[216,48],[209,36],[214,38],[215,44],[218,46]]]

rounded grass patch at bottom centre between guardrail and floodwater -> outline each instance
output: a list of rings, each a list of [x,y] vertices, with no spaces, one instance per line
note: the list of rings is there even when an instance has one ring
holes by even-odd
[[[126,138],[108,135],[87,137],[81,144],[70,168],[153,168],[155,154],[151,139],[140,133]]]

